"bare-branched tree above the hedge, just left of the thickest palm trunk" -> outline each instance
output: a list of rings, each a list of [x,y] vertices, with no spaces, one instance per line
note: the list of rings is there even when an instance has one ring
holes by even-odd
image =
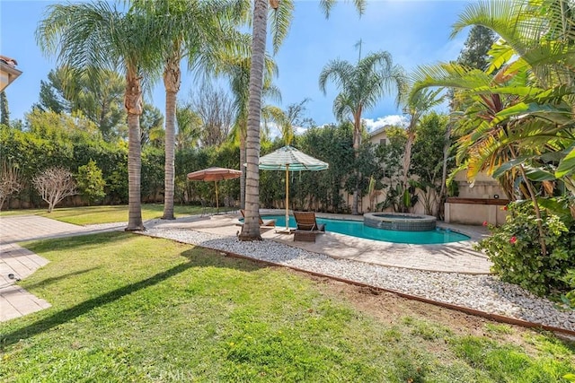
[[[222,89],[204,84],[199,92],[191,96],[191,105],[199,115],[202,124],[201,144],[220,145],[230,133],[234,121],[234,106],[231,97]]]

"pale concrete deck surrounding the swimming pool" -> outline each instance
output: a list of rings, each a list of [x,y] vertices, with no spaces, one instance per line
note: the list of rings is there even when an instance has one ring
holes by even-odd
[[[285,211],[261,210],[261,214],[282,214]],[[318,217],[357,220],[361,216],[317,213]],[[213,234],[237,235],[242,230],[239,225],[239,214],[221,214],[211,216],[190,216],[172,222],[155,220],[148,227],[195,230]],[[374,239],[350,237],[328,231],[316,236],[315,243],[294,241],[293,234],[282,232],[285,227],[275,229],[262,228],[261,238],[276,240],[296,248],[303,248],[315,253],[334,258],[345,258],[374,265],[403,267],[442,273],[489,274],[491,261],[487,256],[472,248],[473,243],[488,235],[482,226],[466,226],[438,222],[438,226],[462,232],[470,240],[461,242],[411,245],[405,243],[383,242]]]

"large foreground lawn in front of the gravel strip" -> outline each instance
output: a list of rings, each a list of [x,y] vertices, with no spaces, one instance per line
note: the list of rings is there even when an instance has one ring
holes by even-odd
[[[1,324],[3,382],[558,382],[575,347],[388,325],[305,274],[125,232],[25,244],[52,307]],[[495,328],[495,327],[491,327]]]

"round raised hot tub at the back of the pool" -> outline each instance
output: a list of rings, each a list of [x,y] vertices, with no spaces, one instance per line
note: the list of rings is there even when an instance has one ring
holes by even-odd
[[[363,224],[393,231],[432,231],[437,219],[432,215],[411,213],[365,213]]]

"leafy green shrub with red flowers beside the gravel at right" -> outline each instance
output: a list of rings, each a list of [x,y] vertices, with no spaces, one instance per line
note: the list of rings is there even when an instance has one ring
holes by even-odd
[[[537,295],[558,297],[575,286],[567,275],[575,270],[575,222],[542,211],[547,255],[541,253],[533,205],[510,204],[507,222],[490,226],[491,236],[476,248],[493,262],[492,271]]]

